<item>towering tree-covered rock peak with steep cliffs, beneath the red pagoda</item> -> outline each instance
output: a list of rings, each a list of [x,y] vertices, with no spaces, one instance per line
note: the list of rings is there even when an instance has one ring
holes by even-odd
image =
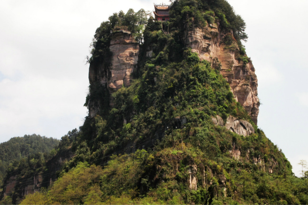
[[[61,140],[74,154],[21,203],[307,203],[305,179],[254,123],[257,79],[232,7],[174,1],[170,21],[150,17],[141,35],[142,13],[96,30],[89,116]]]

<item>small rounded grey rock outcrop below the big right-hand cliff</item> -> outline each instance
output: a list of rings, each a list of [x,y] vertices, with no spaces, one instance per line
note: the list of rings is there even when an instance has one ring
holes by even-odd
[[[212,116],[212,121],[215,125],[225,126],[228,130],[235,132],[238,135],[248,136],[254,133],[254,128],[249,122],[246,120],[237,119],[231,115],[228,117],[225,125],[224,121],[219,115],[216,115],[216,117]]]

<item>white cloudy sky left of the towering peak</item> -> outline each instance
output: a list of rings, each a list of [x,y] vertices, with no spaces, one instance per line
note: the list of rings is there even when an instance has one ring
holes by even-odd
[[[114,12],[153,10],[152,3],[0,1],[0,142],[33,133],[60,138],[82,125],[96,28]]]

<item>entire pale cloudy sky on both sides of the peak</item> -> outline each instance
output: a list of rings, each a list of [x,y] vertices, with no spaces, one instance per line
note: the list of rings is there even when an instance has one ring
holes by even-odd
[[[39,134],[60,139],[87,116],[86,56],[100,23],[168,0],[0,0],[0,142]],[[228,0],[245,20],[258,78],[258,127],[299,176],[308,161],[308,1]]]

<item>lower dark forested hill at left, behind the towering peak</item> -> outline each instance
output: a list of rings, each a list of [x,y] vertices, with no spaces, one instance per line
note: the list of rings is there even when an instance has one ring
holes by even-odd
[[[65,144],[69,136],[74,136],[74,131],[77,129],[63,136],[61,141],[33,134],[1,143],[2,165],[6,166],[3,167],[0,204],[17,204],[23,196],[48,185],[46,181],[55,180],[55,171],[61,171],[63,167],[64,162],[61,162],[71,157],[67,156],[69,150]]]

